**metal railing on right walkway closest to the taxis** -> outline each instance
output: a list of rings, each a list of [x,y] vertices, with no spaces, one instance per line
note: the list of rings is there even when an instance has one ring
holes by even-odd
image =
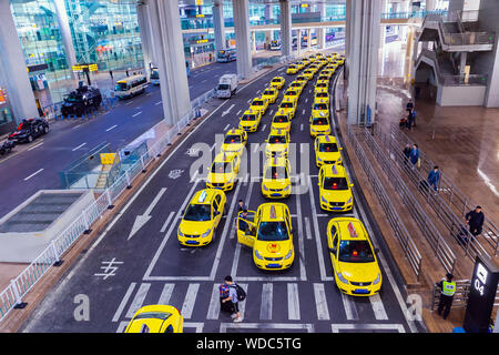
[[[367,175],[367,179],[369,180],[374,191],[376,192],[376,195],[378,196],[379,203],[381,204],[385,214],[388,217],[388,222],[390,223],[391,229],[394,230],[395,236],[398,239],[400,246],[404,251],[404,254],[409,261],[410,267],[413,268],[413,272],[416,274],[416,277],[419,281],[422,261],[421,254],[419,253],[406,226],[401,222],[400,216],[395,210],[390,199],[386,193],[385,187],[383,186],[381,182],[379,181],[379,178],[377,176],[376,171],[373,169],[373,165],[367,159],[364,149],[357,141],[356,134],[350,128],[350,125],[347,125],[347,136],[354,148],[354,151],[360,162],[360,165],[363,166]]]

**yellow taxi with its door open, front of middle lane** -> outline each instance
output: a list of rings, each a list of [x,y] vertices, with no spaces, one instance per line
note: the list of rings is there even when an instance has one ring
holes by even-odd
[[[286,270],[295,258],[289,209],[284,203],[264,203],[252,219],[240,212],[237,242],[253,250],[253,262],[262,270]]]

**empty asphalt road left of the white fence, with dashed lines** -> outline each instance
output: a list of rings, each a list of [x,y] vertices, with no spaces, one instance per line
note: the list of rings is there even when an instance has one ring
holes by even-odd
[[[213,89],[224,73],[235,73],[236,64],[214,63],[192,70],[191,100]],[[163,119],[159,87],[144,94],[119,101],[105,114],[90,121],[58,121],[50,132],[27,146],[18,146],[0,158],[0,217],[39,190],[62,189],[59,172],[102,143],[118,151]]]

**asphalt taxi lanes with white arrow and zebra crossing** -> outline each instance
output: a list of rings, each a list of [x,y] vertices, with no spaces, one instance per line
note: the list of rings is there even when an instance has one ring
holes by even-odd
[[[23,332],[122,332],[140,306],[157,303],[181,310],[184,332],[424,331],[406,312],[407,294],[399,273],[353,172],[355,207],[347,215],[363,220],[375,247],[380,248],[384,283],[378,296],[346,296],[335,287],[326,241],[326,226],[334,214],[319,209],[318,170],[313,164],[306,172],[306,159],[297,160],[294,181],[312,189],[284,200],[295,231],[296,256],[291,270],[259,271],[253,263],[251,250],[241,246],[235,236],[237,200],[244,200],[249,210],[267,202],[259,192],[259,174],[243,179],[227,193],[227,215],[210,245],[186,248],[177,243],[181,211],[193,193],[205,186],[205,174],[190,176],[190,168],[198,159],[192,149],[204,143],[208,154],[214,155],[218,150],[215,134],[235,126],[248,101],[275,74],[286,78],[286,87],[292,81],[282,70],[265,74],[223,102],[190,133],[112,220],[106,232],[52,288],[24,324]],[[255,144],[268,135],[283,91],[264,115],[258,131],[249,134],[248,150],[257,150]],[[313,162],[308,131],[312,99],[313,84],[308,83],[293,120],[292,141],[297,143],[296,154],[299,151],[302,158]],[[333,125],[336,131],[334,122]],[[257,159],[249,156],[249,162]],[[345,165],[350,168],[348,156],[345,156]],[[145,212],[150,212],[151,220],[130,237],[135,219]],[[232,323],[230,316],[218,310],[217,286],[227,274],[247,292],[246,301],[241,304],[244,317],[241,324]]]

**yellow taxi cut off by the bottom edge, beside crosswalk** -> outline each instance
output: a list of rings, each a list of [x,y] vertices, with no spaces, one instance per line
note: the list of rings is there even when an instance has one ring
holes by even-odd
[[[125,333],[183,333],[184,317],[174,306],[143,306],[133,315]]]

